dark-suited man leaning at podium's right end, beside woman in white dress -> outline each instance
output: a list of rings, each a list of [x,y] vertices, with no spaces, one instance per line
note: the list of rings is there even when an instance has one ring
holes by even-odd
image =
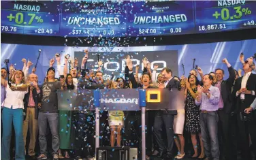
[[[179,82],[174,79],[172,76],[172,70],[165,67],[162,69],[161,74],[163,75],[163,79],[165,80],[164,84],[158,84],[159,89],[178,89]],[[167,146],[165,146],[165,142],[163,142],[163,138],[161,135],[161,128],[165,125],[166,136],[167,136]],[[173,158],[172,155],[172,147],[174,145],[174,114],[170,112],[170,110],[158,110],[155,113],[155,121],[153,125],[153,133],[155,134],[155,138],[157,141],[157,145],[159,146],[159,156],[163,157],[165,152],[167,152],[167,158]]]

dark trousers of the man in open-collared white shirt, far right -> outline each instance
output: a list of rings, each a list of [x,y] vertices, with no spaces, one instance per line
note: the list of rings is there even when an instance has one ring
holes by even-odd
[[[253,143],[253,153],[256,155],[256,112],[253,113],[253,120],[250,122],[242,122],[240,114],[237,115],[239,139],[242,151],[242,159],[251,160],[251,151],[249,148],[249,134],[251,135],[251,141]]]

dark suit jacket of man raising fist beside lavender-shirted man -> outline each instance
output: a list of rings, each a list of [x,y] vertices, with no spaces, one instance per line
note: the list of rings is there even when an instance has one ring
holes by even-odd
[[[226,114],[230,114],[231,113],[231,108],[232,108],[232,98],[231,98],[231,88],[234,84],[235,78],[236,78],[236,74],[235,71],[233,69],[233,67],[229,67],[228,68],[229,71],[229,78],[227,78],[227,80],[223,80],[221,82],[221,97],[223,99],[223,103],[224,103],[224,112]]]

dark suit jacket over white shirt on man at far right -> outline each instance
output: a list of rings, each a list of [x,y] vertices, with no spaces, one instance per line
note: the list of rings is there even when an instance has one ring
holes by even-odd
[[[235,112],[243,112],[245,108],[249,108],[251,106],[251,103],[253,103],[255,99],[255,95],[244,95],[244,103],[241,103],[240,101],[240,95],[236,97],[236,92],[241,89],[242,84],[242,77],[238,78],[236,80],[236,83],[234,85],[234,91],[232,93],[232,96],[234,97],[234,100],[236,101],[236,110]],[[246,83],[246,89],[249,91],[254,91],[256,93],[256,75],[251,74],[248,78],[248,81]]]

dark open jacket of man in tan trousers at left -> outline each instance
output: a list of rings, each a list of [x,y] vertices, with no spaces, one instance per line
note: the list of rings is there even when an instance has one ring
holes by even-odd
[[[40,87],[39,87],[40,88]],[[28,88],[29,92],[25,95],[24,101],[24,111],[27,114],[27,106],[29,105],[29,95],[30,95],[30,87]],[[32,90],[33,99],[35,101],[35,119],[38,118],[39,109],[37,107],[38,103],[41,101],[42,98],[42,89],[40,89],[40,93],[37,93],[37,90],[34,88]]]

